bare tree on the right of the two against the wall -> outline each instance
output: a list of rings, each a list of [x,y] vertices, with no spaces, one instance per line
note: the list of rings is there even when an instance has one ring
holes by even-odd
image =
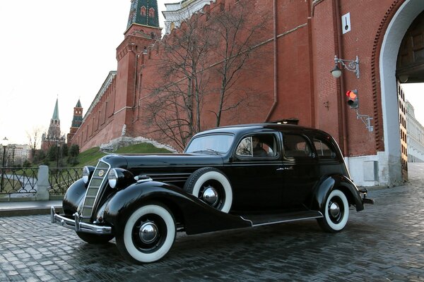
[[[219,59],[216,64],[220,81],[219,97],[216,110],[213,111],[216,115],[216,126],[220,125],[225,111],[235,109],[244,101],[242,95],[232,102],[229,99],[233,96],[232,93],[237,91],[235,85],[240,78],[240,71],[248,68],[254,70],[254,64],[258,63],[249,60],[249,57],[252,57],[252,54],[260,56],[261,52],[257,50],[260,33],[271,23],[271,15],[261,14],[257,17],[261,20],[252,23],[249,16],[256,12],[249,1],[239,1],[231,11],[223,11],[214,17],[208,28],[209,40],[215,40],[214,45],[217,46],[213,48],[213,56]]]

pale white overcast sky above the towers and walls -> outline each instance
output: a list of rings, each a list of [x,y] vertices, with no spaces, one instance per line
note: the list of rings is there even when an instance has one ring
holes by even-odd
[[[164,2],[177,1],[158,0],[160,18]],[[85,114],[117,69],[130,6],[130,0],[0,1],[0,143],[7,137],[27,144],[34,128],[45,132],[57,97],[61,131],[69,133],[78,99]],[[417,110],[424,84],[410,86],[406,97],[424,124],[424,111]]]

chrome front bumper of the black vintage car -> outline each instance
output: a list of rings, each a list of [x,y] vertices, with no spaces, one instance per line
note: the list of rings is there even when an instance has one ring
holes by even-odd
[[[54,207],[50,209],[50,215],[52,216],[52,223],[58,223],[69,229],[73,229],[76,232],[92,233],[92,234],[112,234],[112,227],[110,226],[98,226],[91,223],[85,223],[80,221],[80,216],[76,212],[73,214],[74,219],[69,219],[66,216],[61,216],[56,213]]]

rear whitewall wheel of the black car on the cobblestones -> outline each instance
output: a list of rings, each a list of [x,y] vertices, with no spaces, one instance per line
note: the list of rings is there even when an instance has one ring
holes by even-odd
[[[324,218],[317,219],[319,226],[326,231],[335,233],[341,231],[348,223],[349,203],[341,190],[332,190],[323,207]]]

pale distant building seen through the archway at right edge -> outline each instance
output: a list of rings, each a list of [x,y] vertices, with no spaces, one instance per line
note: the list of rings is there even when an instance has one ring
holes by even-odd
[[[416,120],[412,104],[408,101],[405,104],[408,162],[422,163],[424,162],[424,127]]]

